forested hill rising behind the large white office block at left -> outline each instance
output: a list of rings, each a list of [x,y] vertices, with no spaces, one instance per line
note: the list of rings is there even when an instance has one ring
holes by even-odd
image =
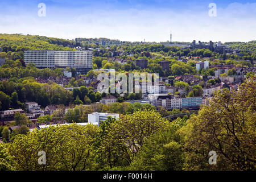
[[[0,34],[0,57],[23,59],[24,50],[73,50],[68,45],[72,45],[71,40],[38,35]]]

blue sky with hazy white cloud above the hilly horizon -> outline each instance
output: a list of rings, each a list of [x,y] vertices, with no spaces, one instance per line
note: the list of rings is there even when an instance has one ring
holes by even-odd
[[[170,31],[179,42],[256,40],[256,0],[0,0],[3,34],[166,42]]]

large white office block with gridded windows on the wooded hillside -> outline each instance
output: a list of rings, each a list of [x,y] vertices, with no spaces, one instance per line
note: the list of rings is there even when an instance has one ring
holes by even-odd
[[[24,51],[24,61],[36,68],[76,68],[77,74],[92,70],[92,51]]]

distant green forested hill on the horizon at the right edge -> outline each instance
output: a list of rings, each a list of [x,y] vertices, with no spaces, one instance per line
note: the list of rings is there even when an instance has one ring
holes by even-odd
[[[232,49],[241,49],[242,51],[256,53],[256,40],[250,42],[226,42],[224,45],[229,46]]]

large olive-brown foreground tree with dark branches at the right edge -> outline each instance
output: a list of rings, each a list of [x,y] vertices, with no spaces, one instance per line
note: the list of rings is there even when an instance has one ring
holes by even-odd
[[[256,79],[247,80],[237,92],[220,91],[181,129],[187,151],[186,169],[255,169]],[[217,165],[208,163],[217,152]]]

